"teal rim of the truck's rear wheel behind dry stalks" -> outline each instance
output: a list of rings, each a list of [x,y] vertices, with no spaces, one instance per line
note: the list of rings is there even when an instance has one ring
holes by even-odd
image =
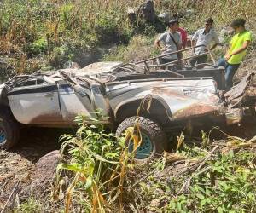
[[[150,156],[153,151],[153,143],[148,137],[148,135],[142,133],[143,141],[139,147],[137,147],[137,151],[135,153],[135,158],[137,159],[145,159]],[[133,142],[129,146],[129,152],[133,151]]]

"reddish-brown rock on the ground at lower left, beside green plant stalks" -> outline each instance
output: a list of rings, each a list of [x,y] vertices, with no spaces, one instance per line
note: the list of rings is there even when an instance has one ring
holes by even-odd
[[[56,167],[61,159],[59,150],[47,153],[42,158],[39,158],[35,170],[32,171],[31,190],[38,194],[51,186],[56,174]]]

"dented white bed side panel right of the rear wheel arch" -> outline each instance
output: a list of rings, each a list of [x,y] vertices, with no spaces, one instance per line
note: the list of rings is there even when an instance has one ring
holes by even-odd
[[[168,84],[155,85],[151,94],[160,96],[166,101],[172,112],[171,120],[199,117],[218,112],[220,100],[214,94],[213,83],[211,85],[210,81],[176,82],[176,87],[173,85],[170,87]],[[193,85],[193,87],[189,87],[189,85]]]

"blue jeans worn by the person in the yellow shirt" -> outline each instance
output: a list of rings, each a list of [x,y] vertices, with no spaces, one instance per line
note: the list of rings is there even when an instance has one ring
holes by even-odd
[[[230,89],[233,86],[233,77],[240,66],[240,64],[231,65],[224,58],[218,60],[217,66],[224,66],[225,67],[225,81],[226,81],[226,89]]]

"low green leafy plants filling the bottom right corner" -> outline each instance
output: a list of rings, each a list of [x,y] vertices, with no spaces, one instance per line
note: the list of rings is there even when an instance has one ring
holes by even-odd
[[[255,212],[256,171],[252,168],[255,157],[251,151],[218,154],[207,163],[207,171],[192,179],[188,193],[173,197],[167,209],[179,212]],[[172,181],[179,185],[177,180]]]

